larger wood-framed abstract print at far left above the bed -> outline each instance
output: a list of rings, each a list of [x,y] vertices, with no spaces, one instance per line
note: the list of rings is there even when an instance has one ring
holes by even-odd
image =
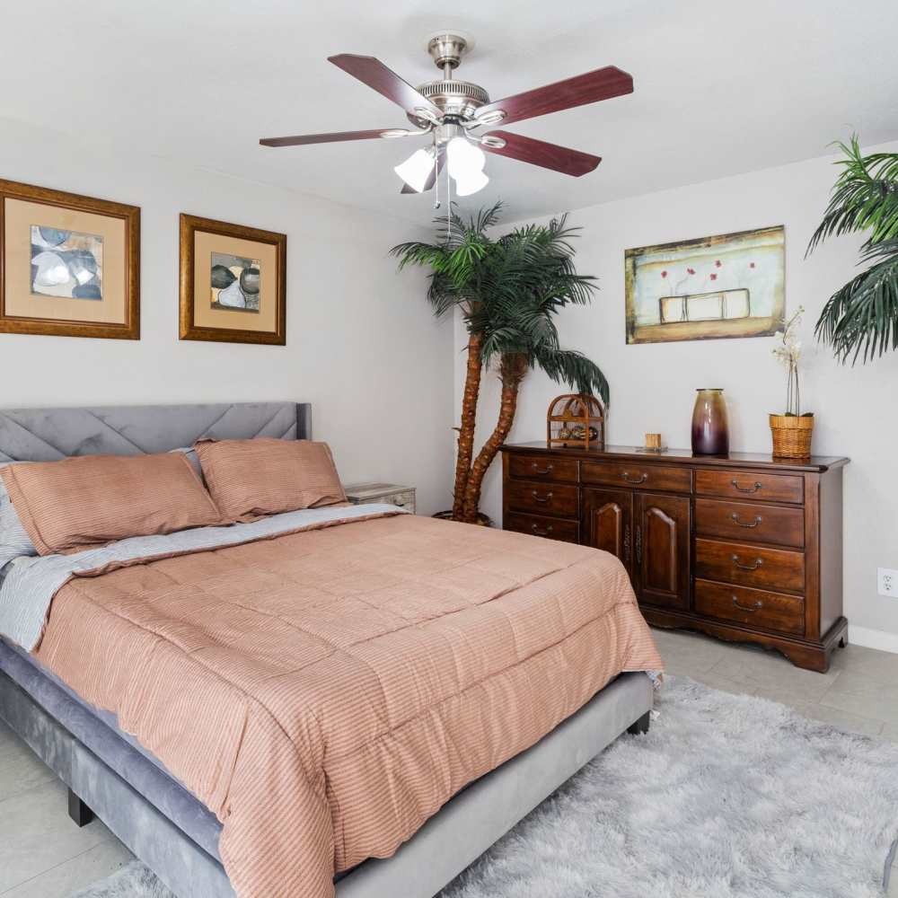
[[[140,339],[140,209],[0,180],[0,331]]]

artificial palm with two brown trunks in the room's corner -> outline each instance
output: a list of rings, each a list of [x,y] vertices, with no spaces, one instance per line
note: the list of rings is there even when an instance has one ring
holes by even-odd
[[[527,372],[536,366],[556,383],[608,401],[608,383],[588,358],[559,345],[554,316],[566,305],[587,304],[594,277],[577,274],[566,216],[548,225],[527,225],[498,237],[502,204],[463,220],[454,211],[436,219],[436,243],[394,246],[400,269],[430,269],[427,298],[437,316],[461,310],[468,330],[468,360],[462,397],[462,420],[455,465],[453,519],[477,520],[480,489],[515,420],[517,395]],[[480,373],[494,365],[502,382],[496,427],[474,456],[474,427]]]

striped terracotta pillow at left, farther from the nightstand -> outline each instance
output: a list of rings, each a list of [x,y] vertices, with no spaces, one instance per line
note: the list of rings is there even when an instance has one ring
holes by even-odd
[[[40,555],[230,523],[181,453],[22,462],[0,478]]]

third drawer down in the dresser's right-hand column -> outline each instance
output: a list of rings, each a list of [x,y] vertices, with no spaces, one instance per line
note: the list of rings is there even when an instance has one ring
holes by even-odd
[[[697,539],[695,575],[776,592],[801,593],[805,589],[805,555],[739,542]]]

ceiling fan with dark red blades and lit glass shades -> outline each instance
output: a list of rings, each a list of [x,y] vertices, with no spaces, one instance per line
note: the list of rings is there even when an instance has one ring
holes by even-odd
[[[305,134],[292,137],[266,137],[263,146],[324,144],[342,140],[431,137],[426,149],[418,149],[395,167],[405,182],[402,193],[421,193],[432,189],[444,165],[455,181],[455,192],[469,196],[486,187],[489,178],[483,172],[483,151],[507,156],[520,162],[579,178],[602,162],[599,156],[581,153],[566,146],[549,144],[510,131],[487,131],[500,122],[533,119],[550,112],[573,109],[588,103],[608,100],[633,92],[633,79],[615,66],[605,66],[585,75],[577,75],[533,91],[517,93],[504,100],[490,101],[479,84],[457,81],[453,71],[471,49],[471,38],[458,31],[439,31],[427,44],[427,52],[443,72],[443,78],[412,87],[374,57],[340,53],[328,61],[348,75],[367,84],[388,100],[397,103],[415,127],[374,128],[367,131],[339,131],[332,134]],[[438,205],[438,204],[437,204]]]

